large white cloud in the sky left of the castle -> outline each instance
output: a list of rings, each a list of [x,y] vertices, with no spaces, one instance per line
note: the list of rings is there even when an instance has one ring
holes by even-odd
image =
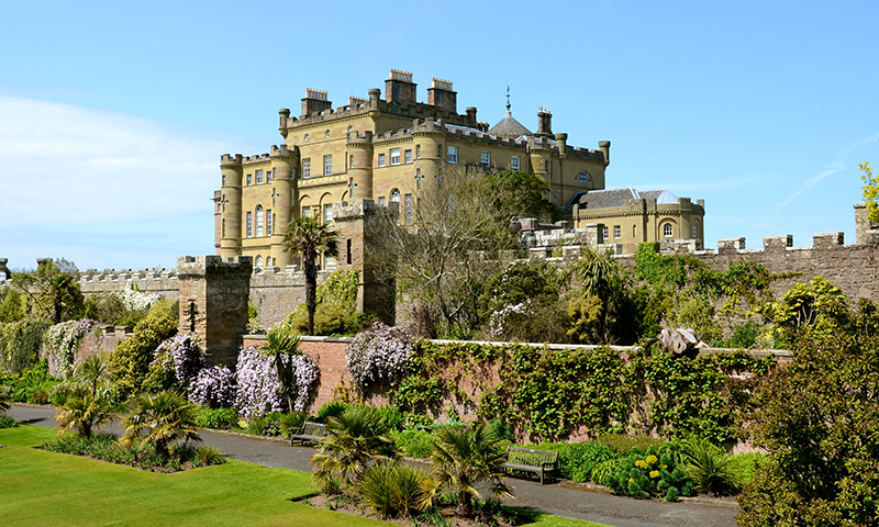
[[[211,213],[229,145],[220,133],[4,96],[0,116],[7,228]]]

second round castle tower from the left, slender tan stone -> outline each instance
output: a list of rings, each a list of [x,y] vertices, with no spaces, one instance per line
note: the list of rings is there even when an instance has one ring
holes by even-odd
[[[283,234],[293,215],[293,168],[299,164],[299,148],[287,145],[271,147],[271,170],[275,175],[271,182],[271,257],[278,267],[290,265],[290,254],[283,250]]]

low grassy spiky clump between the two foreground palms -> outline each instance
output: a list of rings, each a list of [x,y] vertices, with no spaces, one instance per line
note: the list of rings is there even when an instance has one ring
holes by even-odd
[[[368,467],[357,484],[366,503],[381,517],[412,516],[424,509],[427,473],[394,461]]]

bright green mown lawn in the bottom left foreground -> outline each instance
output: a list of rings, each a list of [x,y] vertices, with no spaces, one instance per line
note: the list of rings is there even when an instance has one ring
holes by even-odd
[[[379,526],[291,500],[314,493],[310,475],[230,460],[174,474],[144,472],[33,448],[38,426],[0,429],[0,524],[13,526]],[[534,527],[601,527],[541,515]]]

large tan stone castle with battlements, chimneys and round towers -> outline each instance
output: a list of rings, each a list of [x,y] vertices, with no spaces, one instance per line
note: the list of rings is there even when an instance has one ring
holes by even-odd
[[[280,146],[258,156],[223,155],[222,188],[213,198],[216,253],[251,256],[257,269],[285,268],[293,264],[282,246],[293,217],[331,223],[334,203],[355,200],[399,208],[401,222],[411,224],[422,180],[445,165],[534,173],[549,186],[555,205],[572,210],[576,226],[599,224],[605,240],[625,249],[681,239],[703,247],[701,201],[667,191],[603,190],[609,141],[597,150],[569,146],[568,134],[553,133],[553,114],[543,109],[532,133],[512,116],[509,102],[507,115],[489,127],[476,108],[458,114],[450,81],[434,78],[426,103],[416,101],[416,88],[411,72],[391,69],[383,100],[372,89],[368,99],[349,97],[335,110],[325,91],[307,89],[299,116],[279,112]],[[322,258],[323,269],[336,266]]]

